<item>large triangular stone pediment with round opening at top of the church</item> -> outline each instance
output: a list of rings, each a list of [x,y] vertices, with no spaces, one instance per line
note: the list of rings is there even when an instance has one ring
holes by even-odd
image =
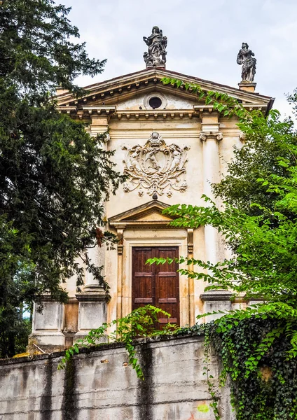
[[[161,80],[165,77],[177,78],[184,80],[186,83],[196,83],[205,91],[215,90],[226,93],[231,97],[239,99],[244,104],[250,104],[251,106],[258,105],[261,106],[262,109],[265,109],[265,107],[267,108],[271,103],[270,97],[261,94],[246,92],[235,87],[221,85],[209,80],[203,80],[165,69],[144,69],[104,82],[94,83],[93,85],[85,87],[87,94],[80,99],[74,98],[73,95],[68,92],[57,94],[56,99],[59,107],[65,107],[65,109],[74,107],[76,111],[83,108],[86,109],[86,107],[88,107],[90,111],[90,107],[96,108],[98,106],[102,107],[103,111],[104,106],[106,108],[110,106],[111,109],[108,111],[116,112],[117,109],[123,109],[123,103],[135,100],[138,96],[141,97],[141,95],[143,96],[150,92],[174,95],[177,99],[187,101],[191,105],[202,104],[202,102],[198,100],[198,96],[191,94],[189,91],[172,85],[163,85]],[[136,107],[139,109],[139,106]],[[181,106],[180,108],[183,109],[184,107]],[[166,109],[171,108],[170,106],[167,106]]]

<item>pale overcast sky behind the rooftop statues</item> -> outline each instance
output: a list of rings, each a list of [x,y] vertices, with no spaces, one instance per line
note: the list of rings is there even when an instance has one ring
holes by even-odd
[[[57,1],[57,0],[56,0]],[[58,2],[58,1],[57,1]],[[297,0],[60,0],[91,57],[107,58],[104,72],[81,85],[144,69],[143,36],[154,25],[168,38],[167,69],[237,87],[242,42],[255,53],[256,92],[275,97],[297,87]]]

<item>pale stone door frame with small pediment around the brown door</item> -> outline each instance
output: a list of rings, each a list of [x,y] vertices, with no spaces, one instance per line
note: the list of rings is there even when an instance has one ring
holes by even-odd
[[[178,246],[179,256],[193,256],[193,229],[170,226],[173,219],[163,215],[169,207],[158,200],[142,204],[109,218],[109,226],[118,236],[118,274],[116,318],[132,311],[132,247]],[[186,267],[186,265],[185,265]],[[179,274],[180,324],[195,323],[195,296],[193,279]]]

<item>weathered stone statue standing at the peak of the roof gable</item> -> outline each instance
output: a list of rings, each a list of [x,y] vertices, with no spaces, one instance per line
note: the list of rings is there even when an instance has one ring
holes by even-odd
[[[163,36],[162,29],[153,27],[151,35],[146,38],[144,42],[148,45],[148,52],[144,52],[144,62],[146,66],[153,66],[158,64],[165,64],[167,51],[167,36]]]

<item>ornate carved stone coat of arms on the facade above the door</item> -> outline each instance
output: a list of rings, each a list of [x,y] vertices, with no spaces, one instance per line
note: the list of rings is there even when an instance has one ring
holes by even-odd
[[[148,195],[163,195],[166,190],[167,197],[171,197],[172,190],[184,193],[188,188],[184,179],[188,146],[167,146],[160,134],[153,132],[144,146],[122,146],[122,149],[127,151],[123,163],[124,174],[129,176],[123,187],[125,193],[139,188],[138,194],[141,197],[144,189]]]

